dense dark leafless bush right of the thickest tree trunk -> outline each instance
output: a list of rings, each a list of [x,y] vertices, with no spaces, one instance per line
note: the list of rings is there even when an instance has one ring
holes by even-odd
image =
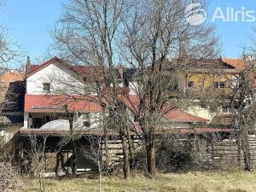
[[[206,143],[200,137],[162,136],[156,145],[159,171],[178,172],[207,166]]]

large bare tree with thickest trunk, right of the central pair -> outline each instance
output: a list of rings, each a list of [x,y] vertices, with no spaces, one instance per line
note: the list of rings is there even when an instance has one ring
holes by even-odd
[[[183,90],[179,75],[189,65],[214,58],[218,40],[212,26],[189,26],[189,1],[143,1],[131,11],[120,49],[137,71],[139,107],[135,111],[147,150],[148,174],[154,176],[155,136],[163,114],[178,106]],[[205,4],[204,2],[201,2]],[[169,106],[169,107],[167,107]],[[172,106],[172,107],[170,107]]]

